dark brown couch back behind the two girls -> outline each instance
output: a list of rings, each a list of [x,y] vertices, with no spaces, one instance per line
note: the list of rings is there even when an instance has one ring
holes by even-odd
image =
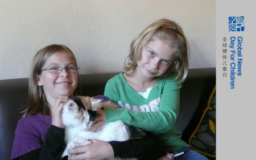
[[[216,83],[215,68],[189,69],[181,88],[180,114],[177,127],[188,141]],[[103,94],[106,81],[117,73],[80,75],[82,95]],[[19,108],[27,102],[28,78],[0,81],[0,159],[10,159],[14,130],[21,114]]]

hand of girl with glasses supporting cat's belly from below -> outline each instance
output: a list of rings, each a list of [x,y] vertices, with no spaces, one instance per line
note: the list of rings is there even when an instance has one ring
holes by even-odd
[[[114,158],[114,151],[112,146],[105,141],[101,140],[89,140],[92,142],[90,145],[81,146],[79,148],[68,150],[71,154],[68,157],[69,160],[79,160],[79,159],[105,159]],[[72,155],[78,154],[78,155]]]

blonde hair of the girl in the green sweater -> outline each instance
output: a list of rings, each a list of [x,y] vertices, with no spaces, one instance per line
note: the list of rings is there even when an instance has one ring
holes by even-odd
[[[125,61],[125,71],[131,71],[128,75],[134,75],[137,69],[137,61],[141,60],[142,49],[156,39],[170,41],[170,45],[175,49],[176,58],[170,68],[163,76],[177,74],[179,83],[182,83],[188,73],[188,43],[183,30],[176,22],[168,19],[159,19],[146,27],[131,42],[130,52]]]

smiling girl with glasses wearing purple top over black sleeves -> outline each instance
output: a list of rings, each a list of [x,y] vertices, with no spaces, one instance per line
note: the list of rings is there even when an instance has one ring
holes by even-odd
[[[65,149],[61,111],[68,96],[80,94],[78,69],[74,54],[65,45],[48,45],[35,54],[29,79],[28,102],[16,126],[11,159],[60,159]],[[125,144],[117,142],[112,145],[115,150],[109,144],[110,152],[103,158],[114,157],[114,151],[119,152],[117,146],[123,145],[131,150],[132,154],[126,155],[130,158],[140,155],[143,159],[143,155],[154,156],[165,151],[162,143],[151,136],[143,140],[130,140]],[[155,145],[162,150],[158,153],[144,150],[154,148]],[[116,156],[122,157],[122,154]]]

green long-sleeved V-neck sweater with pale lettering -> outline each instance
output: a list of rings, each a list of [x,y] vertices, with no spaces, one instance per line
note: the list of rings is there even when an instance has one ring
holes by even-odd
[[[162,78],[156,82],[145,99],[126,82],[122,73],[115,75],[107,82],[104,96],[122,108],[106,109],[106,121],[121,120],[153,132],[168,151],[180,149],[187,145],[181,140],[181,132],[176,127],[180,88],[181,85],[175,77]]]

